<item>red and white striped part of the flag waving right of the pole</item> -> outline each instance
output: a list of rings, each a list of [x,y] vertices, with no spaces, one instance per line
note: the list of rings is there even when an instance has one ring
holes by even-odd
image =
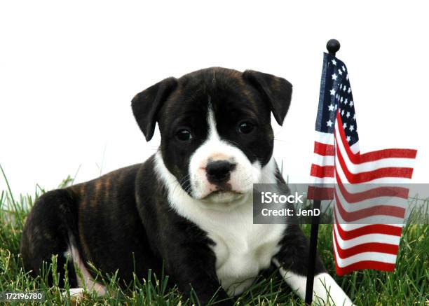
[[[336,272],[343,275],[357,268],[391,271],[395,267],[402,225],[369,223],[380,220],[403,223],[408,189],[390,186],[353,193],[344,184],[371,183],[386,177],[411,179],[416,151],[381,150],[367,153],[360,160],[362,155],[353,153],[348,146],[339,113],[336,115],[334,139],[334,176],[337,183],[334,187],[333,239]],[[364,224],[359,229],[350,229],[349,223]],[[358,234],[356,230],[359,230]]]

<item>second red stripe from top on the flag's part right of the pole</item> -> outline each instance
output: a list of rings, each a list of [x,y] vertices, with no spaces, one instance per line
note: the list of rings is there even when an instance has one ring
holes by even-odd
[[[401,177],[411,179],[411,176],[413,174],[413,168],[406,167],[384,167],[372,171],[353,174],[348,171],[346,162],[344,162],[343,156],[341,155],[338,146],[336,146],[336,156],[339,160],[339,165],[341,166],[341,169],[343,169],[344,175],[346,176],[348,183],[365,183],[374,179],[381,179],[382,177]],[[335,164],[335,167],[338,167],[337,164]]]

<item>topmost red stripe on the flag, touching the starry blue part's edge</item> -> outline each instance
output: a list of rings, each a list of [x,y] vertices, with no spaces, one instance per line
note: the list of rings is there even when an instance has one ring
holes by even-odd
[[[348,141],[346,140],[346,133],[343,129],[343,122],[341,120],[341,116],[336,113],[336,124],[339,127],[339,133],[341,140],[344,144],[344,148],[346,148],[346,153],[348,155],[348,159],[353,162],[353,164],[360,164],[362,162],[373,162],[374,160],[381,160],[383,158],[416,158],[417,150],[412,150],[409,148],[388,148],[379,151],[368,152],[365,154],[353,153],[348,145]]]

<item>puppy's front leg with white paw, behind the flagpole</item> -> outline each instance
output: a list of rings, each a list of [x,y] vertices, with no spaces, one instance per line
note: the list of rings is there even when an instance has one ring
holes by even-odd
[[[273,258],[282,277],[301,298],[306,295],[308,249],[308,241],[301,228],[288,225],[280,242],[280,251]],[[327,274],[320,258],[316,258],[315,263],[313,301],[320,305],[353,305],[343,289]]]

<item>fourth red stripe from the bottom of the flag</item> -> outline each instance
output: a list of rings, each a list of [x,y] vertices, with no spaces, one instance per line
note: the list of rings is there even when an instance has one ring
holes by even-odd
[[[343,205],[339,201],[338,194],[334,190],[336,207],[339,209],[339,214],[341,218],[346,222],[353,222],[360,220],[362,218],[367,218],[371,216],[393,216],[396,218],[404,218],[405,209],[402,207],[396,207],[393,205],[376,205],[374,207],[368,207],[360,209],[357,211],[346,211],[343,208]]]

